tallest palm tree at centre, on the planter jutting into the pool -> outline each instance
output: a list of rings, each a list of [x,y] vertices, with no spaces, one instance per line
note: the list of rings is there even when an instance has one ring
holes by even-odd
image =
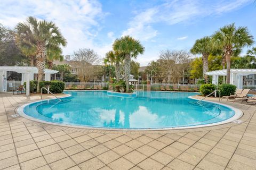
[[[129,92],[129,77],[131,74],[131,57],[137,58],[139,54],[143,54],[145,48],[139,40],[135,40],[130,36],[124,36],[116,39],[113,44],[115,52],[124,54],[124,79],[126,82],[126,92]]]

